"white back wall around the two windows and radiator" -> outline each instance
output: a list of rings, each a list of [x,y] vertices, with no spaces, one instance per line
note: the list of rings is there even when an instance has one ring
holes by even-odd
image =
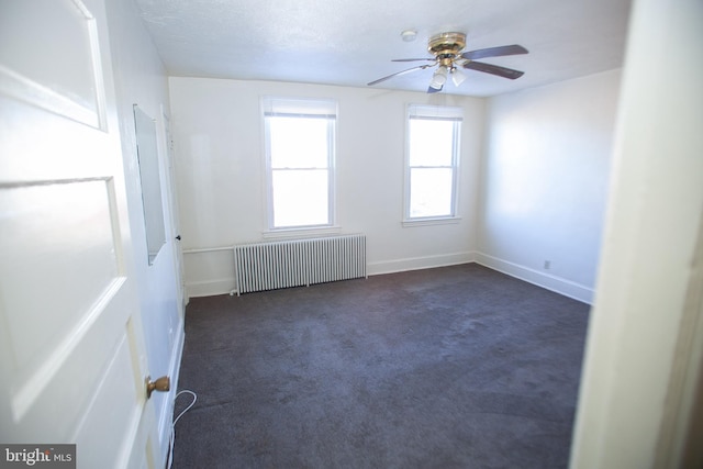
[[[261,96],[338,102],[336,213],[367,235],[369,273],[472,260],[484,100],[281,82],[169,78],[183,249],[260,241],[266,230]],[[406,103],[460,105],[459,223],[401,226]],[[231,250],[186,255],[190,295],[234,288]]]

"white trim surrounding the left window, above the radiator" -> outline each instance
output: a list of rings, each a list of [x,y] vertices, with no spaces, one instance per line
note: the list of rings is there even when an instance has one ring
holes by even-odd
[[[280,98],[264,96],[260,99],[261,107],[261,129],[263,129],[263,147],[264,147],[264,166],[265,166],[265,212],[266,212],[266,228],[263,231],[264,238],[276,237],[305,237],[315,236],[327,233],[338,233],[341,227],[336,225],[336,138],[337,130],[336,122],[338,120],[337,102],[334,99],[324,98]],[[320,109],[325,108],[326,114],[321,113]],[[277,110],[278,109],[278,110]],[[272,201],[272,169],[269,148],[269,129],[266,122],[267,115],[305,115],[306,110],[312,109],[312,114],[315,116],[334,119],[333,129],[328,129],[332,133],[328,136],[327,149],[327,221],[328,223],[320,225],[301,225],[301,226],[274,226],[274,201]],[[281,112],[280,110],[283,110]]]

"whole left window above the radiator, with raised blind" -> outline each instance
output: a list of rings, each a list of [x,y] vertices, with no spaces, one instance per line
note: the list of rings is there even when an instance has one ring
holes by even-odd
[[[264,99],[270,230],[334,223],[336,103]]]

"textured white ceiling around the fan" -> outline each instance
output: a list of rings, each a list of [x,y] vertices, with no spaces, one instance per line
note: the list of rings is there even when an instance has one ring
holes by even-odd
[[[466,51],[521,44],[528,55],[481,62],[517,80],[466,70],[446,93],[494,96],[622,66],[629,0],[136,0],[169,75],[366,87],[429,57],[436,33]],[[417,31],[414,42],[400,33]],[[376,88],[425,91],[432,69]]]

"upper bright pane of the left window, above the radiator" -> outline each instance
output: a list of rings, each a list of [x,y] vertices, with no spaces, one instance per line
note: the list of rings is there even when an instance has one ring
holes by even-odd
[[[327,120],[268,118],[271,168],[326,168]]]

